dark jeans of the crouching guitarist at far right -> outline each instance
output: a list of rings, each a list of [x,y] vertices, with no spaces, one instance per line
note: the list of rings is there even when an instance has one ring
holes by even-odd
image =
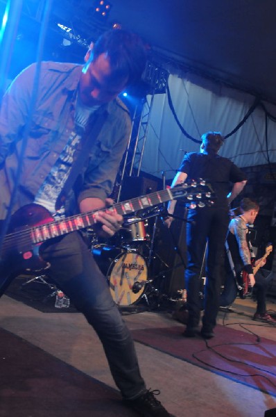
[[[237,272],[239,276],[240,272]],[[253,287],[253,295],[255,295],[257,300],[257,310],[259,314],[264,314],[266,312],[266,291],[270,281],[273,279],[273,273],[271,272],[268,276],[265,276],[261,270],[255,275],[255,286]],[[232,272],[227,272],[225,277],[225,286],[223,293],[221,293],[220,306],[230,306],[236,299],[236,293],[238,288],[236,286],[236,280]]]

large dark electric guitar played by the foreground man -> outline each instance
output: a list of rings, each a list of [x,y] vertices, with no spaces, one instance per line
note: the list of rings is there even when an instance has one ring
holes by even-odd
[[[182,198],[193,206],[212,204],[214,199],[212,189],[205,181],[167,188],[128,200],[119,202],[101,211],[116,211],[127,216],[131,213],[141,213],[159,204],[173,199]],[[3,239],[0,252],[0,297],[12,279],[20,273],[38,272],[49,268],[40,256],[40,245],[46,240],[92,227],[96,224],[97,211],[80,213],[62,220],[53,220],[46,208],[38,204],[28,204],[19,208],[11,217],[8,234]]]

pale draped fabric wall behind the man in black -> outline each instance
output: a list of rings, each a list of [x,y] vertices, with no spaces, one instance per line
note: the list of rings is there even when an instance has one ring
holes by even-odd
[[[191,75],[169,76],[169,90],[178,120],[187,133],[200,140],[206,131],[230,133],[243,120],[255,97],[208,79]],[[150,97],[148,97],[150,101]],[[264,103],[276,117],[276,106]],[[239,167],[266,165],[266,113],[258,106],[241,128],[225,140],[220,155]],[[276,122],[268,119],[269,161],[276,162]],[[184,152],[198,152],[200,145],[180,130],[166,94],[155,95],[149,117],[141,170],[155,177],[171,179]],[[135,164],[137,166],[137,164]]]

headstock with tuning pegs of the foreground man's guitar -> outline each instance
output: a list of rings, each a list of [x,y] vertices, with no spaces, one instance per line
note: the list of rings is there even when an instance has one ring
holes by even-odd
[[[182,183],[171,188],[173,199],[182,199],[189,208],[205,207],[214,204],[216,198],[212,187],[203,179],[192,180],[190,183]]]

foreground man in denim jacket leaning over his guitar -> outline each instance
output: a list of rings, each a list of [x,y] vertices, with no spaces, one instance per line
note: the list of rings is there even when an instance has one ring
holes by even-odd
[[[146,389],[132,336],[106,278],[83,236],[71,220],[65,220],[72,212],[94,212],[99,234],[112,236],[119,230],[122,215],[106,208],[131,121],[117,96],[141,79],[145,65],[144,42],[134,33],[112,30],[91,45],[85,65],[33,64],[17,76],[0,112],[0,219],[11,224],[11,215],[15,220],[20,211],[18,222],[24,216],[30,222],[36,218],[39,224],[61,220],[62,236],[53,226],[49,240],[40,246],[47,275],[98,334],[128,407],[141,416],[168,417],[155,398],[159,392]],[[46,226],[41,229],[44,236],[46,230]],[[21,238],[19,234],[15,249]],[[19,263],[19,254],[31,261],[33,252],[19,247],[17,258],[6,262],[5,268],[1,251],[0,295],[10,283],[6,274]]]

